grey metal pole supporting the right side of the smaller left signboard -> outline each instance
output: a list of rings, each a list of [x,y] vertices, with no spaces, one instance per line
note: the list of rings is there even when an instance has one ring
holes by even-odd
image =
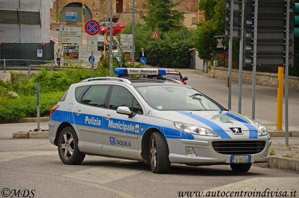
[[[244,0],[242,0],[241,11],[241,35],[240,35],[240,54],[239,54],[239,97],[238,97],[238,113],[242,112],[242,74],[243,74],[243,42],[244,42]]]

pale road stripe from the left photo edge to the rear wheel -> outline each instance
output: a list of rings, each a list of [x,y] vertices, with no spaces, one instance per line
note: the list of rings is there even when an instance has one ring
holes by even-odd
[[[0,152],[0,162],[6,162],[10,160],[15,160],[19,158],[26,158],[29,156],[51,156],[58,155],[55,151],[8,151]]]

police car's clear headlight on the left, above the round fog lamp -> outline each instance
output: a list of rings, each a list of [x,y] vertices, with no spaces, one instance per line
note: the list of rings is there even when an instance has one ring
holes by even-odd
[[[186,124],[182,122],[174,122],[174,126],[183,132],[196,134],[196,135],[202,135],[202,136],[218,136],[217,133],[215,133],[211,129],[207,129],[204,127],[199,127],[191,124]]]

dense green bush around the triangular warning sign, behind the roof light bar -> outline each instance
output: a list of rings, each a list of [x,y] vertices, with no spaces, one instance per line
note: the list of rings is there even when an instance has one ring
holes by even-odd
[[[157,30],[160,39],[151,39],[154,30]],[[123,34],[132,33],[132,23],[122,31]],[[151,29],[141,24],[135,25],[135,57],[141,48],[146,53],[147,63],[150,65],[174,68],[189,68],[189,49],[195,47],[194,31],[181,27],[176,30],[163,32],[159,29]],[[117,36],[120,40],[120,35]],[[161,58],[162,57],[162,58]]]

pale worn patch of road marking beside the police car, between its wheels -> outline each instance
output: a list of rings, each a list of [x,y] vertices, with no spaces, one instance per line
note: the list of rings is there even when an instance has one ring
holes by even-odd
[[[124,162],[132,162],[130,160],[121,160],[118,162],[115,162],[113,164],[117,163],[124,163]],[[111,171],[113,169],[113,171]],[[141,173],[142,171],[137,171],[134,169],[128,169],[125,167],[111,167],[109,165],[107,166],[98,166],[90,169],[85,169],[82,171],[70,173],[63,175],[67,178],[72,178],[75,180],[81,180],[85,182],[92,182],[95,184],[105,184],[112,181],[120,180],[128,176],[132,176],[138,173]]]

